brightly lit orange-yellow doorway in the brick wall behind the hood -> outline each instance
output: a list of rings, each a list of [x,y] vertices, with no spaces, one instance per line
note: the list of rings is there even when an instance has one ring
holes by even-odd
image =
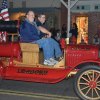
[[[88,44],[88,17],[76,17],[76,24],[78,27],[77,44]]]

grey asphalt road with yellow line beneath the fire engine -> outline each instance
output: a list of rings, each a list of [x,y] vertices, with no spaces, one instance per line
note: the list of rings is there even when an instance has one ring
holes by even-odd
[[[79,100],[73,90],[73,78],[56,84],[2,80],[0,100]]]

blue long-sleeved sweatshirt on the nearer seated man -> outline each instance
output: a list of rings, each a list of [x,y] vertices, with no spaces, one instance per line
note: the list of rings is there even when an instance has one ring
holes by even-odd
[[[21,42],[33,42],[40,39],[39,30],[34,25],[27,20],[22,22],[20,26],[20,40]]]

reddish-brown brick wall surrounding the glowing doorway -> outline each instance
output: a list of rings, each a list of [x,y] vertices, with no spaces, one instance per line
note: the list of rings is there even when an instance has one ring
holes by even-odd
[[[100,12],[89,12],[89,13],[71,13],[71,24],[75,22],[76,17],[88,17],[88,37],[89,43],[93,43],[93,37],[97,33],[98,25],[100,25]],[[62,22],[66,22],[65,13],[62,13]]]

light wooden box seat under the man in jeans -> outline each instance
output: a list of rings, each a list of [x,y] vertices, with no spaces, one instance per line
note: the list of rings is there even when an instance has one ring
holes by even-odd
[[[25,64],[39,63],[39,45],[33,43],[20,43],[22,61]]]

